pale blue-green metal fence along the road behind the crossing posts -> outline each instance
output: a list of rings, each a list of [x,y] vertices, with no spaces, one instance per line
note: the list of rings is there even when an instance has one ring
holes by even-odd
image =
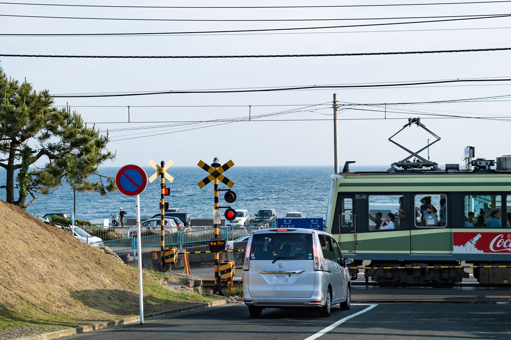
[[[220,227],[219,229],[219,238],[223,238],[226,241],[235,240],[245,235],[250,235],[252,231],[260,230],[260,229],[269,229],[275,228],[276,221],[265,222],[265,223],[253,223],[245,226],[229,226],[229,227]],[[127,227],[124,227],[128,229]],[[97,228],[101,229],[101,228]],[[112,228],[109,228],[112,229]],[[121,228],[115,228],[115,230],[120,230]],[[133,228],[136,230],[136,228]],[[160,231],[155,228],[155,232],[157,235],[148,235],[141,236],[141,248],[157,248],[161,246],[161,236]],[[95,232],[94,230],[86,229],[88,233],[94,236],[100,236],[100,233]],[[91,233],[95,232],[95,233]],[[105,229],[105,235],[108,237],[108,229]],[[110,231],[111,232],[111,231]],[[121,233],[121,231],[119,231]],[[123,233],[123,235],[129,235],[132,233]],[[116,234],[117,235],[117,234]],[[136,245],[136,237],[134,237],[136,233],[134,233],[133,237],[126,237],[120,239],[103,239],[102,242],[94,242],[91,245],[101,244],[103,243],[105,246],[109,247],[112,251],[126,251],[126,250],[135,250],[137,248]],[[144,235],[144,233],[142,233]],[[165,246],[174,246],[174,247],[190,247],[190,246],[203,246],[207,245],[208,240],[215,237],[215,228],[200,228],[200,227],[192,227],[192,230],[188,231],[178,231],[175,233],[166,233],[165,234]]]

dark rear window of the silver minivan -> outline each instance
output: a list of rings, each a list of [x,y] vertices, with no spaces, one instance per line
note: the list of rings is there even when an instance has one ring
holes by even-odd
[[[253,254],[253,255],[252,255]],[[312,234],[271,233],[254,234],[252,260],[312,260]]]

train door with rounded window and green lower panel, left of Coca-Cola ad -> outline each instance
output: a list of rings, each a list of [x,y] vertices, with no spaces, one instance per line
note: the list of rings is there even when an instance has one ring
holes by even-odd
[[[447,193],[414,193],[411,254],[451,254],[452,202]]]

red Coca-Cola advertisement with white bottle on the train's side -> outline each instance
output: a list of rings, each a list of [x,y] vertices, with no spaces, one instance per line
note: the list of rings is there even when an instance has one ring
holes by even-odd
[[[511,231],[455,232],[454,253],[511,253]]]

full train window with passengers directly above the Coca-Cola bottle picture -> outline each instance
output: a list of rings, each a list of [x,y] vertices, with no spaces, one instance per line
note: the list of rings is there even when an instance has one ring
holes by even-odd
[[[465,227],[502,228],[502,197],[500,195],[466,195]]]

